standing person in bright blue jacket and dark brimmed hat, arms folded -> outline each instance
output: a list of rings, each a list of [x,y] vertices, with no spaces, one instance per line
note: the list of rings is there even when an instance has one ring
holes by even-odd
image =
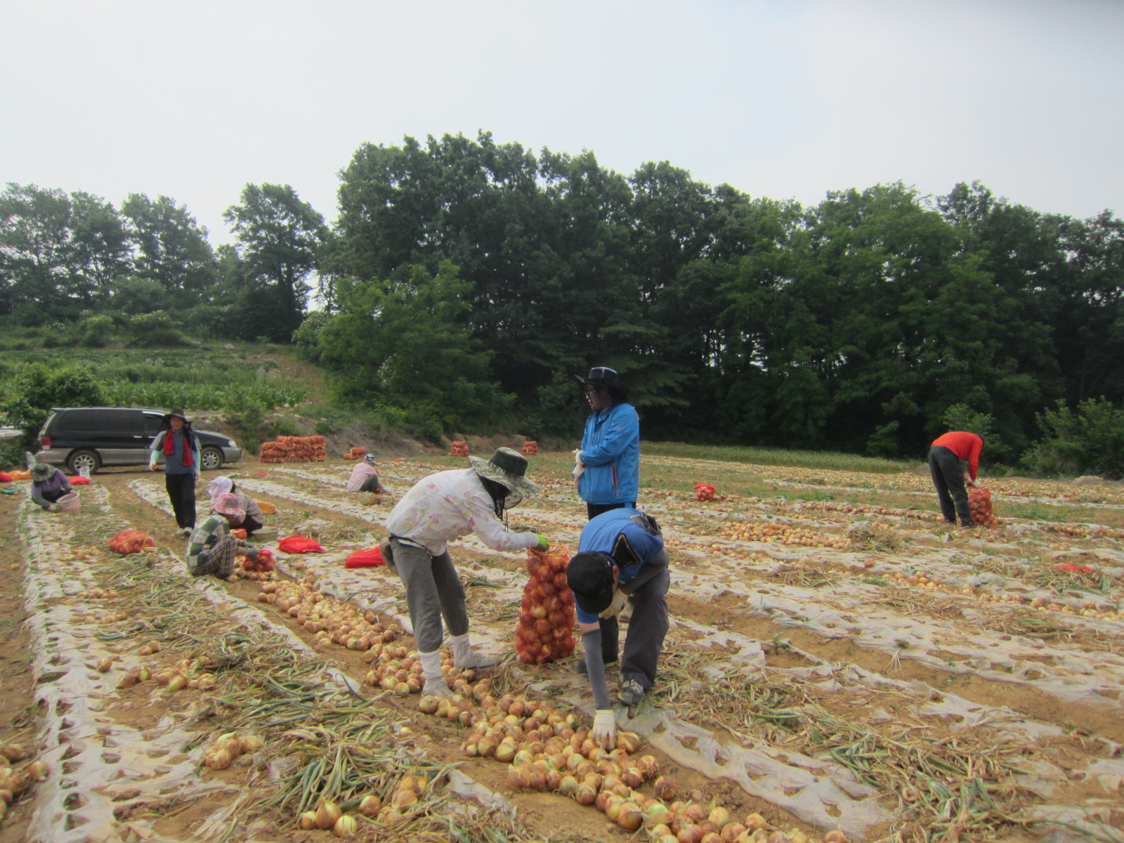
[[[609,509],[636,507],[640,491],[640,417],[628,404],[620,377],[595,366],[589,377],[575,375],[586,389],[592,414],[586,419],[581,451],[574,461],[578,495],[592,518]]]

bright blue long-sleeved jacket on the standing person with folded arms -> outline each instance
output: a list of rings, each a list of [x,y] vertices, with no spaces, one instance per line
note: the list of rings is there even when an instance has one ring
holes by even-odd
[[[640,491],[640,417],[631,404],[617,404],[586,419],[581,437],[586,471],[578,495],[587,504],[635,504]]]

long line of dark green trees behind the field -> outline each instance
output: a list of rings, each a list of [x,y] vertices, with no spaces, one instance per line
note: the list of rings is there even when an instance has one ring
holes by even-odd
[[[53,271],[28,236],[43,193],[70,200]],[[247,185],[226,217],[237,245],[210,253],[163,197],[118,214],[9,185],[0,314],[160,305],[216,334],[241,319],[239,335],[293,338],[341,397],[435,435],[572,433],[590,364],[620,371],[649,437],[880,455],[971,423],[1014,462],[1049,414],[1124,399],[1124,228],[1107,210],[1043,214],[979,183],[805,207],[488,133],[362,145],[337,210],[329,230],[291,188]]]

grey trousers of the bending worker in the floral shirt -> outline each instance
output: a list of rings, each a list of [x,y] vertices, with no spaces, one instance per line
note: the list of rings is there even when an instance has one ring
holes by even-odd
[[[444,616],[450,635],[469,631],[469,609],[464,605],[464,586],[456,575],[448,553],[430,556],[423,547],[390,540],[393,564],[406,586],[406,606],[414,624],[414,643],[419,653],[441,649]]]

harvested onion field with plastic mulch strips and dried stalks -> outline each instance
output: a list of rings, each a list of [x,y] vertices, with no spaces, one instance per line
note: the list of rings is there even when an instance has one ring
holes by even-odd
[[[543,493],[509,518],[575,550],[571,459],[531,457]],[[347,493],[339,459],[228,466],[277,507],[270,526],[325,547],[229,582],[188,574],[160,474],[99,473],[74,515],[16,483],[0,497],[0,744],[27,774],[0,843],[334,840],[301,827],[321,797],[369,841],[1124,840],[1121,487],[986,481],[998,528],[960,531],[927,475],[645,454],[638,505],[669,547],[671,628],[659,685],[619,713],[638,745],[581,759],[584,677],[515,658],[524,554],[451,547],[473,641],[506,661],[461,677],[444,718],[409,692],[397,577],[343,565],[416,480],[464,465],[382,459],[381,499]],[[698,482],[714,500],[696,501]],[[156,547],[110,553],[128,527]],[[613,671],[609,686],[615,699]],[[540,767],[481,749],[472,724],[489,715],[545,752]],[[572,797],[629,800],[563,796],[570,772]]]

